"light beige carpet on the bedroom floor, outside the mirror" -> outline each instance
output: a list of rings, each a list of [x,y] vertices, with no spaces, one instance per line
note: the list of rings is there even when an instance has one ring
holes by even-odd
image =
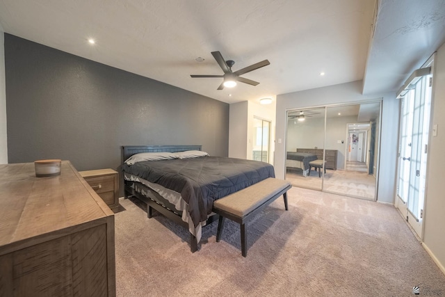
[[[118,296],[445,295],[445,275],[392,206],[302,188],[277,199],[248,225],[241,256],[238,224],[204,228],[191,253],[188,232],[136,200],[115,214]],[[156,213],[157,214],[157,213]]]

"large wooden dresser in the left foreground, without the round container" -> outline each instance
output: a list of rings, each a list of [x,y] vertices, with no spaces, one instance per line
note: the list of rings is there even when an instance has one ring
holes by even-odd
[[[114,215],[74,169],[0,165],[0,296],[115,296]]]

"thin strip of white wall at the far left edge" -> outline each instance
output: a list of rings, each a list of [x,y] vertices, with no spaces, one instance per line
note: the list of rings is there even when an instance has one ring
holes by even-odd
[[[0,164],[8,163],[8,138],[6,136],[6,78],[5,35],[0,26]]]

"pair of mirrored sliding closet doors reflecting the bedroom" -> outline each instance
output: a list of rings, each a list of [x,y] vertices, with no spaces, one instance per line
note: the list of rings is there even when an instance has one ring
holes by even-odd
[[[286,179],[294,186],[375,200],[380,135],[380,101],[327,106],[298,125],[301,111],[287,113]],[[316,155],[307,174],[291,166],[291,152]],[[299,156],[300,159],[303,156]],[[314,156],[305,156],[313,158]],[[301,171],[301,172],[300,172]],[[300,175],[298,175],[300,173]]]

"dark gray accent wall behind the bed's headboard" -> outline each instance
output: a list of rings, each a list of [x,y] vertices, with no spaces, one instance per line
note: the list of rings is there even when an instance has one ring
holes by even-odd
[[[228,155],[229,104],[8,33],[4,39],[9,163],[63,159],[77,170],[118,169],[122,145],[202,145]]]

